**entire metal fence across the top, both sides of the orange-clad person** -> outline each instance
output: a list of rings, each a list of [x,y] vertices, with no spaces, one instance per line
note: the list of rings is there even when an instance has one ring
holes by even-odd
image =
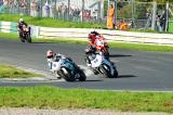
[[[116,24],[125,21],[131,28],[164,31],[173,15],[173,4],[165,10],[167,4],[134,0],[0,0],[0,13],[105,24],[110,3],[116,8]],[[162,24],[160,18],[164,14],[168,18]]]

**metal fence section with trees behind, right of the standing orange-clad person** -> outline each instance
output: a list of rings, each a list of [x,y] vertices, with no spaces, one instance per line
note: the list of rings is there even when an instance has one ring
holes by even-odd
[[[115,3],[115,0],[109,1]],[[170,18],[173,17],[171,16],[173,14],[173,4],[171,3],[119,0],[115,8],[117,24],[125,21],[130,24],[130,27],[137,29],[167,31]]]

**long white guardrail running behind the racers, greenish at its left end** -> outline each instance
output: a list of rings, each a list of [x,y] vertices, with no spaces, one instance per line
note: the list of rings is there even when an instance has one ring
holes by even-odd
[[[35,38],[76,38],[85,40],[92,28],[51,28],[31,26],[31,34]],[[141,43],[157,43],[157,44],[173,44],[172,34],[151,34],[151,33],[135,33],[122,30],[95,29],[104,35],[107,40],[124,41],[124,42],[141,42]],[[1,22],[1,33],[16,33],[17,23]]]

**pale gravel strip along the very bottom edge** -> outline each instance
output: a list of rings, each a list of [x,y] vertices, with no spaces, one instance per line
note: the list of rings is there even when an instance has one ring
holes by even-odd
[[[103,110],[37,110],[26,107],[1,107],[0,115],[170,115],[167,113],[114,112]]]

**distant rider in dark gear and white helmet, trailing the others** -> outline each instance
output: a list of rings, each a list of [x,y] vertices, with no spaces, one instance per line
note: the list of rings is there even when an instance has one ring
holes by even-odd
[[[28,25],[24,22],[24,18],[19,18],[17,29],[18,29],[18,35],[19,35],[21,38],[23,37],[23,34],[24,34],[24,28],[23,28],[24,26],[27,27]]]

